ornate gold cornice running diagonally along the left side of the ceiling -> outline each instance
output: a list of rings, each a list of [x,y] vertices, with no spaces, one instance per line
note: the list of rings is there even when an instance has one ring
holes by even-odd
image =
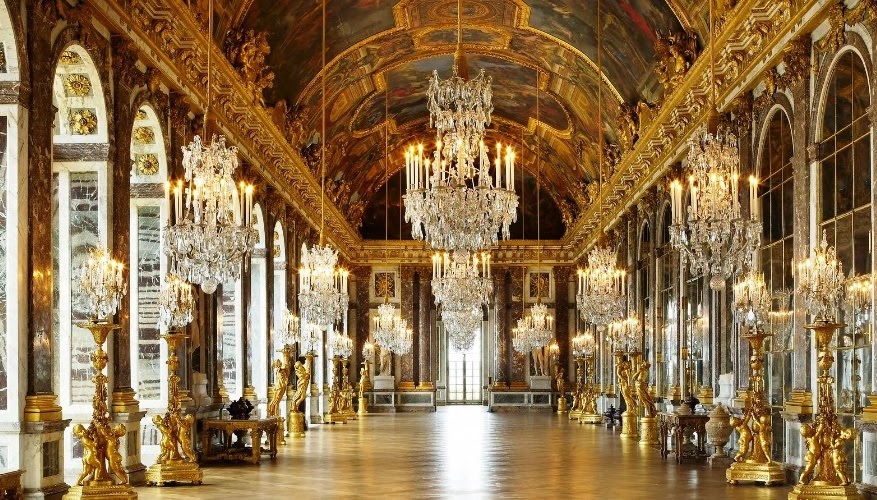
[[[213,50],[212,117],[241,154],[314,227],[320,223],[320,184],[285,140],[269,111],[253,106],[251,93],[222,50],[181,0],[94,0],[94,12],[113,31],[125,33],[140,57],[175,82],[194,106],[205,106],[206,52]],[[326,234],[347,258],[359,235],[334,205],[326,206]]]

